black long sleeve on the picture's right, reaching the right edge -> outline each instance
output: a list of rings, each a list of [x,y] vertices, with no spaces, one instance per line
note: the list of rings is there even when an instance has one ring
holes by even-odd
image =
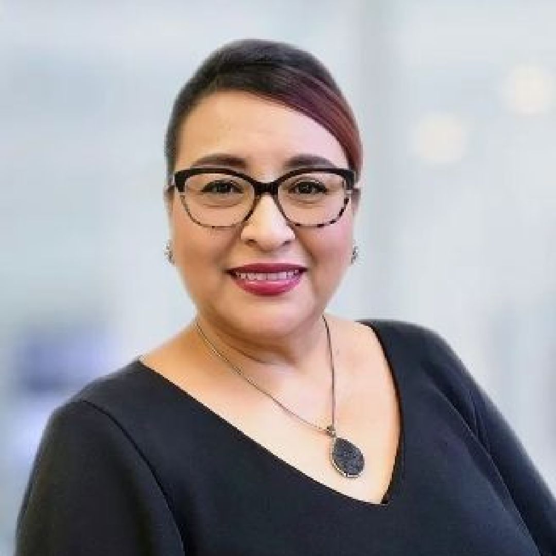
[[[490,454],[539,552],[543,556],[555,556],[556,499],[547,483],[508,421],[460,358],[441,336],[435,332],[431,336],[444,362],[463,379],[475,407],[476,434]]]

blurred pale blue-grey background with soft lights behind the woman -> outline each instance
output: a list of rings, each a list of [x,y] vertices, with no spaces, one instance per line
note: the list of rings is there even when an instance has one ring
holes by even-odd
[[[316,54],[365,143],[330,310],[440,332],[556,490],[556,2],[0,0],[0,554],[46,419],[193,316],[163,133],[212,50]]]

